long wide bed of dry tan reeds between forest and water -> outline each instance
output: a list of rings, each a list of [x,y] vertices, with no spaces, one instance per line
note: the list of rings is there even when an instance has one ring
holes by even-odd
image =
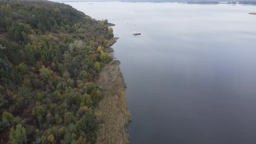
[[[103,98],[95,109],[99,123],[97,144],[127,144],[126,126],[131,121],[125,99],[125,83],[119,68],[119,61],[113,61],[102,69],[97,85]]]

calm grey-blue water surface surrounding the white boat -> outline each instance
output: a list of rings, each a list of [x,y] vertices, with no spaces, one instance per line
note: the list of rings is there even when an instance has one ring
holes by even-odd
[[[256,6],[65,3],[116,24],[132,144],[256,143]]]

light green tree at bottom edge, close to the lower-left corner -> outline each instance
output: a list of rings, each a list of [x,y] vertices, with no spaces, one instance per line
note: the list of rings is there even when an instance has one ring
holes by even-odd
[[[26,143],[26,129],[21,124],[17,124],[16,128],[12,127],[10,129],[10,141],[12,141],[12,144]]]

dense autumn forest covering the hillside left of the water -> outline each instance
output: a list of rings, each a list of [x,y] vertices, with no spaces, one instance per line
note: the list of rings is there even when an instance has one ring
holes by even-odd
[[[0,143],[95,143],[112,37],[63,3],[0,1]]]

